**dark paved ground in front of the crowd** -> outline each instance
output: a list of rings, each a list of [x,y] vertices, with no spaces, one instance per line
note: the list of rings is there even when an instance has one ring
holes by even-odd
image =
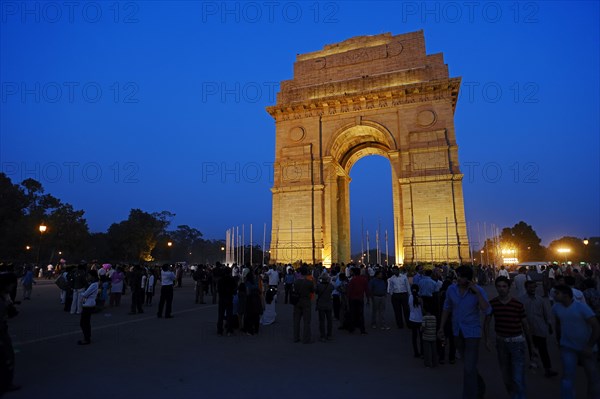
[[[155,304],[128,315],[120,308],[92,316],[89,346],[79,316],[63,312],[58,288],[40,281],[31,301],[9,322],[16,382],[9,398],[460,398],[460,361],[426,369],[414,359],[410,332],[370,329],[366,336],[334,327],[334,342],[292,343],[292,309],[280,301],[277,322],[257,336],[216,334],[216,305],[195,305],[190,279],[175,289],[174,319],[158,319]],[[21,298],[19,290],[18,299]],[[316,314],[313,314],[316,316]],[[392,318],[391,305],[387,307]],[[370,312],[366,311],[370,320]],[[317,320],[313,317],[317,338]],[[556,345],[551,343],[560,370]],[[480,372],[486,398],[507,398],[493,352],[483,346]],[[530,398],[558,398],[559,379],[528,372]],[[579,396],[584,397],[583,371]]]

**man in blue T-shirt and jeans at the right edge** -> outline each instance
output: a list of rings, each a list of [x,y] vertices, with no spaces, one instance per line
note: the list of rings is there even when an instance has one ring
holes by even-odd
[[[560,346],[563,375],[560,382],[562,399],[575,398],[577,363],[585,369],[588,397],[600,398],[600,373],[595,353],[600,337],[600,325],[589,306],[573,300],[573,291],[566,285],[554,287],[556,335]]]

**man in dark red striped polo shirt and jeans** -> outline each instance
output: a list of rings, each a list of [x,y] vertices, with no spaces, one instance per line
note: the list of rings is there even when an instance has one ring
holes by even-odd
[[[510,296],[510,280],[504,276],[496,278],[498,296],[490,301],[492,314],[487,315],[483,325],[486,347],[491,349],[489,327],[495,319],[496,350],[504,385],[511,398],[526,397],[525,391],[525,341],[531,342],[525,315],[525,307]]]

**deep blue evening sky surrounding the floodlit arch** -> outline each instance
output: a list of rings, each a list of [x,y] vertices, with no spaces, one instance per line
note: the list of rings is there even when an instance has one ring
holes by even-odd
[[[600,235],[598,2],[0,3],[0,166],[105,231],[168,210],[206,238],[269,241],[275,124],[296,54],[422,29],[462,77],[455,114],[471,241],[520,220],[547,245]],[[389,230],[385,158],[351,171],[360,228]],[[479,227],[479,234],[477,232]],[[268,245],[268,244],[267,244]],[[382,246],[384,246],[382,242]]]

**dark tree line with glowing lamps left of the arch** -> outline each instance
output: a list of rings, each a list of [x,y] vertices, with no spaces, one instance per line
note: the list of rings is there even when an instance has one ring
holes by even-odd
[[[83,259],[128,263],[224,260],[224,240],[204,239],[198,229],[188,225],[169,230],[175,214],[168,211],[131,209],[126,220],[100,233],[90,232],[84,214],[45,193],[34,179],[14,184],[0,173],[0,262],[47,264],[61,258],[68,263]],[[42,232],[40,226],[46,230]]]

